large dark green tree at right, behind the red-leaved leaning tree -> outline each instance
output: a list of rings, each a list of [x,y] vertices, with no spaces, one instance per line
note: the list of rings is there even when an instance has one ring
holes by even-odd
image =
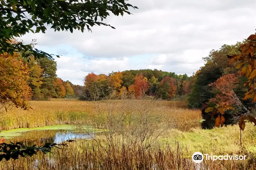
[[[212,89],[208,84],[215,82],[224,74],[236,74],[237,69],[235,64],[229,65],[229,59],[227,54],[239,54],[238,48],[241,45],[241,42],[236,43],[235,45],[226,45],[224,44],[220,50],[212,50],[209,56],[203,58],[206,63],[200,70],[197,72],[194,78],[193,87],[188,95],[187,102],[189,107],[201,108],[209,99],[214,98],[215,94],[212,93]],[[240,78],[240,83],[245,81],[245,79]],[[237,90],[240,91],[238,96],[243,96],[243,87],[237,87]]]

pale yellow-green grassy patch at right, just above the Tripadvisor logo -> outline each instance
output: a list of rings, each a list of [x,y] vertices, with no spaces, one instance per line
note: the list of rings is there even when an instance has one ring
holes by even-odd
[[[242,131],[242,146],[256,153],[256,127],[247,124]],[[160,139],[161,143],[176,146],[176,142],[189,153],[200,151],[208,154],[239,154],[240,128],[238,125],[213,129],[192,128],[189,132],[177,129],[169,131],[166,137]]]

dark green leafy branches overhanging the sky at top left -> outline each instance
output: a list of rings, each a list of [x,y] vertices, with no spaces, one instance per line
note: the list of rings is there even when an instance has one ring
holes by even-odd
[[[33,55],[37,58],[53,58],[32,44],[22,42],[9,43],[11,39],[26,33],[45,33],[45,25],[51,25],[55,31],[70,31],[85,29],[91,31],[94,25],[107,25],[103,22],[110,13],[123,16],[131,14],[128,7],[133,7],[126,1],[116,0],[1,0],[0,1],[0,54],[21,52],[22,57]],[[111,26],[112,27],[112,26]],[[112,27],[114,28],[114,27]],[[59,56],[57,56],[59,57]]]

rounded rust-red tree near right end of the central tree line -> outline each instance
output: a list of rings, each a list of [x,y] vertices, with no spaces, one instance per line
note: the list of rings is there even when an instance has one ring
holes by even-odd
[[[177,86],[175,84],[175,79],[169,76],[166,76],[159,83],[158,95],[162,97],[162,99],[170,99],[176,95]]]

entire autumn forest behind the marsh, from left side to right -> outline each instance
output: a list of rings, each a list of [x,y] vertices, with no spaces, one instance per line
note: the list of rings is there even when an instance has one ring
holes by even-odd
[[[247,107],[252,105],[252,102],[251,99],[243,100],[248,89],[247,86],[243,86],[247,78],[242,76],[247,71],[246,67],[239,71],[240,68],[236,67],[235,63],[229,64],[230,59],[226,56],[239,54],[238,48],[244,42],[224,44],[219,50],[212,50],[203,58],[206,63],[190,77],[187,74],[177,75],[157,69],[112,71],[108,75],[84,75],[84,86],[58,78],[57,63],[54,60],[35,60],[31,57],[28,63],[18,53],[13,56],[4,53],[0,54],[0,82],[6,86],[2,84],[0,92],[9,99],[15,99],[15,103],[19,103],[20,106],[25,106],[22,99],[93,100],[95,94],[97,99],[104,99],[110,92],[115,92],[116,97],[126,94],[135,98],[148,95],[158,99],[183,100],[187,101],[190,108],[215,107],[220,104],[234,107],[241,103]]]

